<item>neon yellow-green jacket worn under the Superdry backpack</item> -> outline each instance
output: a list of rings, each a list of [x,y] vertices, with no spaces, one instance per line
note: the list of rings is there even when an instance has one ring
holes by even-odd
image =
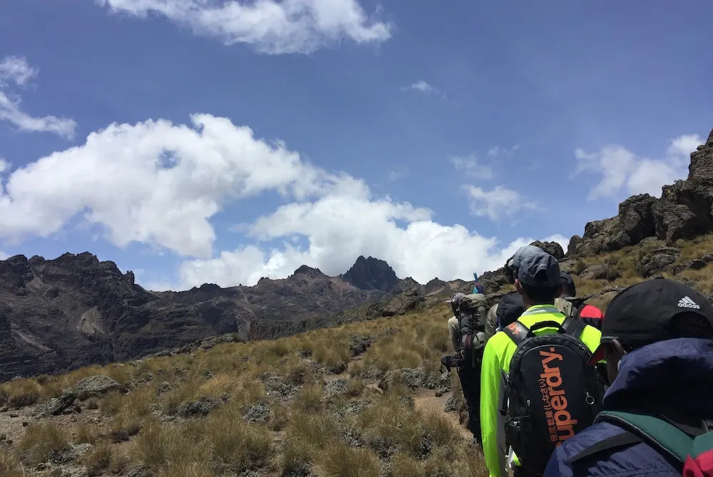
[[[553,305],[535,305],[528,308],[518,319],[526,327],[540,321],[562,323],[565,315]],[[535,330],[535,335],[555,332],[555,328],[545,327]],[[580,340],[594,352],[599,346],[602,333],[592,326],[585,326]],[[502,331],[498,331],[486,344],[481,367],[481,433],[483,434],[483,454],[491,477],[505,477],[505,417],[500,414],[505,392],[505,376],[510,372],[510,361],[515,355],[515,343]],[[503,372],[505,374],[503,374]],[[515,456],[515,465],[519,461]]]

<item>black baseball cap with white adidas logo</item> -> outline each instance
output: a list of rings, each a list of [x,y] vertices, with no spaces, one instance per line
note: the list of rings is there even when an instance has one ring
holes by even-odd
[[[590,364],[604,359],[604,345],[611,340],[644,346],[670,339],[668,325],[681,313],[701,315],[713,327],[713,305],[683,283],[657,277],[625,288],[607,308],[602,321],[602,344]]]

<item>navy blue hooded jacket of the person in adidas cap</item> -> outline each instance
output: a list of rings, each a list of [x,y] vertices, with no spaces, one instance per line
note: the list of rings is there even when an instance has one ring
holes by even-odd
[[[625,355],[605,396],[610,411],[658,414],[674,409],[695,419],[713,417],[713,340],[680,338],[641,347]],[[550,458],[545,477],[680,476],[676,464],[648,444],[601,451],[574,464],[583,449],[624,432],[601,422],[565,441]]]

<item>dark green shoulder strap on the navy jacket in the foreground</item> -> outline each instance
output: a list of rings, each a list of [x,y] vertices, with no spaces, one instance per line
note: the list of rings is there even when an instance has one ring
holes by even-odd
[[[663,419],[632,412],[602,411],[595,422],[607,421],[640,436],[661,454],[684,463],[691,451],[693,439],[684,431]]]

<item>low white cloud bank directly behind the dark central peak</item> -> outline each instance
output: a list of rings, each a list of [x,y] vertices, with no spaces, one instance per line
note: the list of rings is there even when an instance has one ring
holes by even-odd
[[[397,276],[410,276],[419,283],[436,277],[470,280],[473,271],[494,270],[533,241],[520,238],[503,247],[494,238],[459,224],[438,224],[431,216],[429,209],[366,196],[326,196],[289,204],[258,219],[250,235],[267,240],[299,234],[307,237],[307,248],[284,241],[281,248],[250,245],[223,251],[210,260],[185,261],[180,266],[180,286],[252,285],[261,277],[289,276],[302,264],[335,276],[347,271],[359,255],[383,258]],[[567,242],[562,236],[556,240]]]

